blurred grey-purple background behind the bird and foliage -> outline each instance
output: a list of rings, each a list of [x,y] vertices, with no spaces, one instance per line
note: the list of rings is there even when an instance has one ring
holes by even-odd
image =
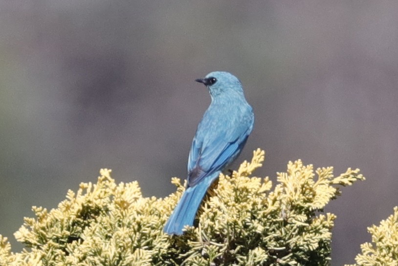
[[[235,164],[266,150],[360,168],[326,211],[332,265],[353,263],[366,227],[398,205],[398,1],[0,1],[0,234],[68,189],[138,180],[172,193],[210,97],[195,78],[243,82],[255,127]],[[232,166],[231,168],[233,168]]]

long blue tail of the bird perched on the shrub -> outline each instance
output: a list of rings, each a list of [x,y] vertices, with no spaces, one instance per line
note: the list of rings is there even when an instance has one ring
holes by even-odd
[[[207,189],[211,183],[219,176],[220,172],[215,172],[205,177],[194,187],[189,187],[182,194],[176,208],[164,226],[163,231],[169,235],[182,235],[185,225],[193,226],[196,213]]]

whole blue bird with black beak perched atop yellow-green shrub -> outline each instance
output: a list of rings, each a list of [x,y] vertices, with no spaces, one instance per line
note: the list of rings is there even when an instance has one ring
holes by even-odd
[[[253,110],[238,78],[228,72],[212,72],[196,81],[207,86],[211,104],[192,141],[187,188],[164,227],[169,235],[181,235],[185,225],[193,226],[208,188],[238,157],[253,129]]]

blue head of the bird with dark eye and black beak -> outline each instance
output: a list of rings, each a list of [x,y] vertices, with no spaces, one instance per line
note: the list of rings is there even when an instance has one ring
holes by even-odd
[[[208,73],[204,78],[198,78],[195,81],[206,85],[212,97],[243,94],[242,83],[236,76],[228,72]]]

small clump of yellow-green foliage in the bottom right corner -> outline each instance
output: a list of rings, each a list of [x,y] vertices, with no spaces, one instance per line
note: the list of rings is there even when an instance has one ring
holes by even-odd
[[[398,266],[398,206],[379,226],[368,227],[368,232],[374,244],[361,244],[362,254],[356,256],[356,264],[351,266]]]

